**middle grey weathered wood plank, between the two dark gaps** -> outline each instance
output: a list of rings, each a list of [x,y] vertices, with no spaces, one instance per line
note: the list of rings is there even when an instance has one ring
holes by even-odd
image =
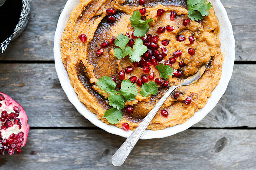
[[[194,127],[256,127],[256,71],[235,65],[226,93]],[[54,64],[0,64],[0,91],[26,110],[32,127],[92,127],[63,92]]]

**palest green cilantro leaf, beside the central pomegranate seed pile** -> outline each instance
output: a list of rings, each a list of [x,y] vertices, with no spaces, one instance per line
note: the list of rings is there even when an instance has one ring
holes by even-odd
[[[147,51],[147,47],[145,45],[143,45],[143,41],[141,39],[136,39],[135,40],[135,43],[133,45],[133,51],[132,53],[130,54],[130,57],[129,59],[132,61],[132,62],[135,62],[135,61],[140,61],[141,59],[141,55],[144,54],[146,51]]]

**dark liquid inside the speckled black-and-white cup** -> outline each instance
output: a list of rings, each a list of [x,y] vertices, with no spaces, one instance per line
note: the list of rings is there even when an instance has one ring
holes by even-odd
[[[6,0],[0,7],[0,42],[9,38],[18,24],[22,9],[21,0]]]

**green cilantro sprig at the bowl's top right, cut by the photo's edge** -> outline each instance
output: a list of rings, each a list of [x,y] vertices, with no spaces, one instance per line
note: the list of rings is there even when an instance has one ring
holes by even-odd
[[[203,16],[209,15],[212,5],[210,2],[206,3],[207,0],[187,0],[188,17],[199,21],[203,19]]]

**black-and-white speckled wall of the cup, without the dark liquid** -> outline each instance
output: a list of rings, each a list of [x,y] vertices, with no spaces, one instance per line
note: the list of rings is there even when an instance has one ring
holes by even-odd
[[[20,18],[14,32],[7,38],[4,42],[0,42],[0,54],[4,52],[7,45],[11,40],[14,40],[16,37],[20,35],[20,33],[25,29],[26,25],[29,21],[29,14],[30,14],[30,4],[29,0],[21,0],[22,1],[22,9],[20,13]]]

